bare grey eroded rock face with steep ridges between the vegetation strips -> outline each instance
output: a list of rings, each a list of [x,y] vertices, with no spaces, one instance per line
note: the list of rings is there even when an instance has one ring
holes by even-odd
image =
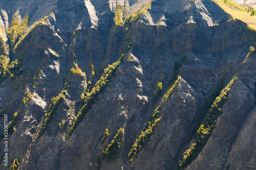
[[[135,21],[115,26],[120,5],[121,22],[125,14],[136,15],[150,6]],[[15,158],[19,169],[177,169],[193,141],[188,136],[206,96],[220,79],[225,78],[227,85],[236,75],[238,81],[211,137],[186,169],[256,168],[256,59],[254,54],[246,58],[255,32],[240,20],[227,21],[230,15],[214,2],[2,0],[0,8],[0,39],[5,48],[0,53],[10,63],[18,59],[23,70],[7,78],[0,72],[0,110],[8,115],[8,123],[18,112],[15,131],[8,134],[8,167],[2,161],[1,169],[8,169]],[[18,37],[22,40],[15,41],[15,48],[8,37],[13,15],[20,23],[29,16],[26,36]],[[127,44],[131,48],[120,67],[68,136],[82,107],[81,94],[92,89],[108,64],[118,61]],[[175,62],[183,56],[187,58],[178,69],[181,80],[161,103]],[[74,62],[77,70],[72,74]],[[159,81],[163,91],[153,102]],[[65,99],[45,133],[37,137],[51,100],[66,82]],[[24,104],[25,92],[32,97]],[[130,162],[128,154],[159,105],[159,124]],[[109,137],[102,142],[108,127]],[[107,160],[102,150],[119,128],[124,130],[119,156]],[[1,157],[4,148],[1,142]]]

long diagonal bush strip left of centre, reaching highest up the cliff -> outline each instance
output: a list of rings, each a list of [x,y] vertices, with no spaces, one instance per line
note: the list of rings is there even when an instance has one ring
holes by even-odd
[[[126,52],[130,50],[130,47],[131,47],[130,45],[131,44],[129,44],[129,46],[127,47]],[[124,54],[121,55],[118,61],[114,62],[113,64],[109,65],[104,69],[104,74],[100,77],[100,80],[96,82],[95,86],[92,88],[90,92],[82,93],[81,100],[83,101],[83,106],[78,112],[77,116],[74,118],[73,125],[68,130],[68,136],[72,134],[72,132],[77,127],[77,125],[82,121],[82,118],[84,117],[84,115],[86,115],[89,112],[97,96],[104,89],[106,83],[108,83],[109,80],[112,78],[115,71],[120,66],[123,58],[124,58]]]

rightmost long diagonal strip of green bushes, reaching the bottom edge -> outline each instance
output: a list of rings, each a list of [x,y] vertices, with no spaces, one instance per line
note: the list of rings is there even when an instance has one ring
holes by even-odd
[[[206,115],[203,125],[201,125],[197,131],[196,143],[193,143],[191,148],[183,153],[182,159],[179,162],[178,169],[185,168],[193,160],[195,160],[198,154],[202,151],[204,145],[206,144],[207,140],[211,136],[212,131],[215,128],[218,116],[222,114],[222,107],[227,100],[227,96],[231,89],[231,86],[234,84],[234,82],[237,81],[237,79],[237,77],[234,77],[229,82],[229,84],[221,91],[220,95],[211,105],[211,108],[209,110],[209,113]]]

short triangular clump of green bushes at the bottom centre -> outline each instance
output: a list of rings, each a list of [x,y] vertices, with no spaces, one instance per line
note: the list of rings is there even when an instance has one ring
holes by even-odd
[[[119,148],[120,148],[120,141],[123,136],[123,129],[120,128],[117,130],[117,134],[115,135],[114,139],[108,145],[108,147],[103,150],[103,156],[109,160],[114,160],[115,157],[118,158],[119,156]]]

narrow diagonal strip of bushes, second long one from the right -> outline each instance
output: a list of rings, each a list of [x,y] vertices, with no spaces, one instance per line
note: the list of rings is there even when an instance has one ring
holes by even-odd
[[[169,88],[167,93],[164,95],[162,102],[160,105],[166,101],[168,96],[172,95],[174,92],[175,87],[178,85],[179,81],[181,80],[181,77],[178,76],[177,80],[173,84],[172,87]],[[145,128],[143,131],[140,132],[140,136],[138,139],[136,139],[132,150],[128,154],[128,159],[130,162],[132,162],[135,158],[135,156],[139,153],[141,148],[145,147],[146,142],[150,139],[151,135],[153,134],[154,130],[156,129],[157,124],[159,123],[160,118],[158,118],[159,115],[159,109],[160,105],[155,109],[154,113],[151,115],[150,119],[148,120],[148,123],[146,124]]]

